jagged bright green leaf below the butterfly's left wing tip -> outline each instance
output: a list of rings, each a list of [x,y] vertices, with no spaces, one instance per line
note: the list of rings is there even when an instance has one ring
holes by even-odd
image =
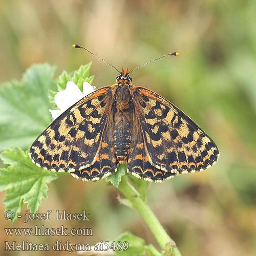
[[[7,168],[0,169],[0,191],[7,190],[3,203],[6,210],[14,212],[14,222],[21,212],[23,204],[35,213],[41,206],[42,198],[48,198],[48,185],[57,175],[43,170],[31,162],[28,153],[19,147],[9,149],[1,154],[1,159]]]

